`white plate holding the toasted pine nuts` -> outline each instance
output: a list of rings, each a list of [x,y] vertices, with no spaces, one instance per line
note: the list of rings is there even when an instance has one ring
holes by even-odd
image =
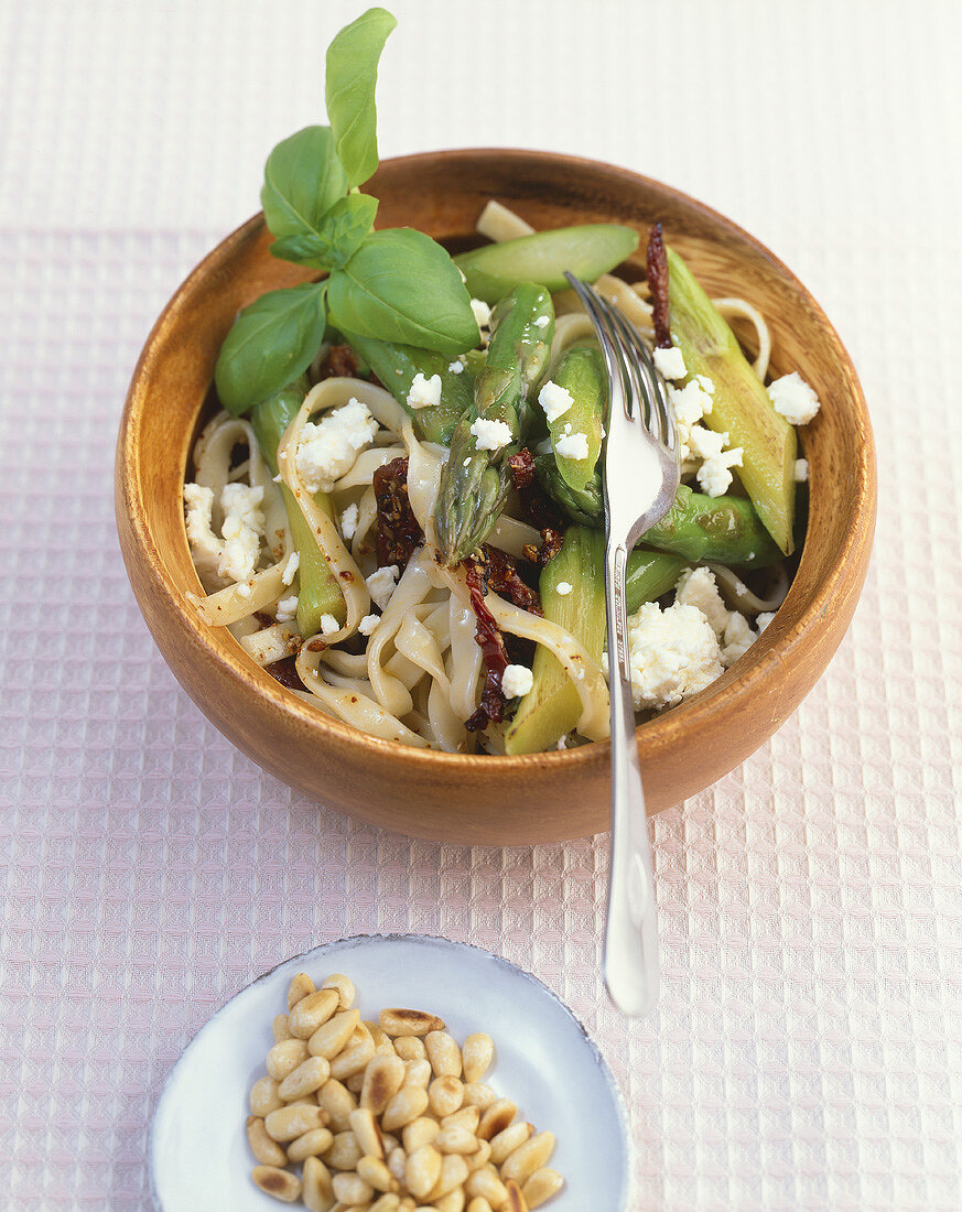
[[[347,973],[362,1018],[384,1006],[412,1006],[440,1014],[458,1042],[487,1031],[496,1064],[485,1080],[538,1131],[557,1137],[550,1165],[566,1187],[546,1208],[628,1208],[628,1117],[611,1070],[571,1011],[540,981],[489,951],[420,934],[374,934],[285,961],[197,1031],[167,1080],[150,1133],[151,1189],[162,1212],[285,1206],[251,1182],[256,1161],[244,1124],[273,1042],[271,1019],[286,1010],[287,984],[300,971],[317,983]]]

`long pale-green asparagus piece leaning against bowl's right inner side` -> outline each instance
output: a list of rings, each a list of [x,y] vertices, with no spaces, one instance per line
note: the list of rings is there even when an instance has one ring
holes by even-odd
[[[744,451],[739,476],[758,518],[785,555],[795,545],[795,430],[779,416],[768,393],[745,361],[734,333],[681,257],[668,248],[671,338],[689,377],[714,384],[704,424],[727,433]]]

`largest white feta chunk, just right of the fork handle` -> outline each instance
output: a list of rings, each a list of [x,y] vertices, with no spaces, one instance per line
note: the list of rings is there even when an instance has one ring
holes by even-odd
[[[721,676],[718,640],[695,606],[645,602],[628,621],[635,709],[674,707]]]

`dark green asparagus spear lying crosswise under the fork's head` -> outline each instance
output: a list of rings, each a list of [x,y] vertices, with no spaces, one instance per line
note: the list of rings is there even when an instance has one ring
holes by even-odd
[[[574,490],[561,479],[551,454],[534,459],[534,473],[544,491],[573,521],[582,526],[601,524],[605,507],[599,475],[584,488]],[[686,560],[716,560],[741,568],[763,568],[781,559],[750,501],[706,497],[685,484],[671,509],[642,536],[642,543]]]

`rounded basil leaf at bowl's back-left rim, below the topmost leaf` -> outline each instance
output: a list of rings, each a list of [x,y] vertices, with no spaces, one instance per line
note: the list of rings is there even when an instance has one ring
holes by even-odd
[[[277,239],[316,231],[321,218],[348,191],[330,126],[305,126],[279,143],[264,165],[260,205]]]

